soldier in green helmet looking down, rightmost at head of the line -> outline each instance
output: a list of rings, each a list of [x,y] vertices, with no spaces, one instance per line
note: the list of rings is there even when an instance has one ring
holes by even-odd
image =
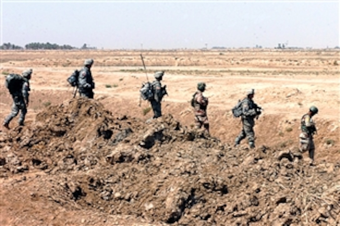
[[[314,161],[314,142],[313,134],[317,132],[315,124],[312,120],[313,115],[318,113],[318,108],[312,106],[309,108],[309,112],[304,114],[301,118],[301,133],[300,133],[300,145],[299,149],[301,152],[308,151],[311,163]]]

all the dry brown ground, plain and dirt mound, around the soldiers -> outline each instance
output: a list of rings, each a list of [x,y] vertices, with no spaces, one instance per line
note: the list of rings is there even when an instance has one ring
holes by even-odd
[[[143,55],[146,69],[140,58]],[[66,79],[93,58],[94,100]],[[339,50],[1,51],[32,68],[25,126],[0,129],[1,225],[340,225]],[[165,71],[163,117],[140,100]],[[190,99],[207,84],[210,136]],[[0,117],[12,98],[4,82]],[[255,89],[255,145],[231,109]],[[315,105],[315,164],[298,150]]]

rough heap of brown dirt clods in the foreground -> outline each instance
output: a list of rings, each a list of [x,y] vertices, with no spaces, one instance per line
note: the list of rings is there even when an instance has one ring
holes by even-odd
[[[340,163],[234,148],[171,115],[145,123],[72,99],[12,130],[0,148],[1,177],[44,172],[32,192],[69,210],[168,224],[340,224]]]

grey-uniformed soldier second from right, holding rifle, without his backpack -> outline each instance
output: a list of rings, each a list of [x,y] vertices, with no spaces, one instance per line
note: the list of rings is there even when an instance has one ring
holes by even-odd
[[[248,137],[249,147],[255,148],[254,143],[254,118],[258,118],[261,114],[261,108],[253,101],[254,89],[248,92],[247,97],[242,100],[242,131],[235,139],[235,146],[239,145],[241,140]]]

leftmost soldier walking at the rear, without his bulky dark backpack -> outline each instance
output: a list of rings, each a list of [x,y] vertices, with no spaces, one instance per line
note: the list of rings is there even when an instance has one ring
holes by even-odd
[[[23,82],[20,87],[17,88],[12,94],[13,105],[11,113],[5,118],[3,126],[7,129],[10,129],[9,124],[10,121],[18,115],[19,111],[20,117],[18,123],[20,126],[23,126],[23,121],[25,120],[25,115],[27,113],[27,107],[29,103],[29,91],[30,91],[30,82],[33,70],[26,70],[22,72]]]

